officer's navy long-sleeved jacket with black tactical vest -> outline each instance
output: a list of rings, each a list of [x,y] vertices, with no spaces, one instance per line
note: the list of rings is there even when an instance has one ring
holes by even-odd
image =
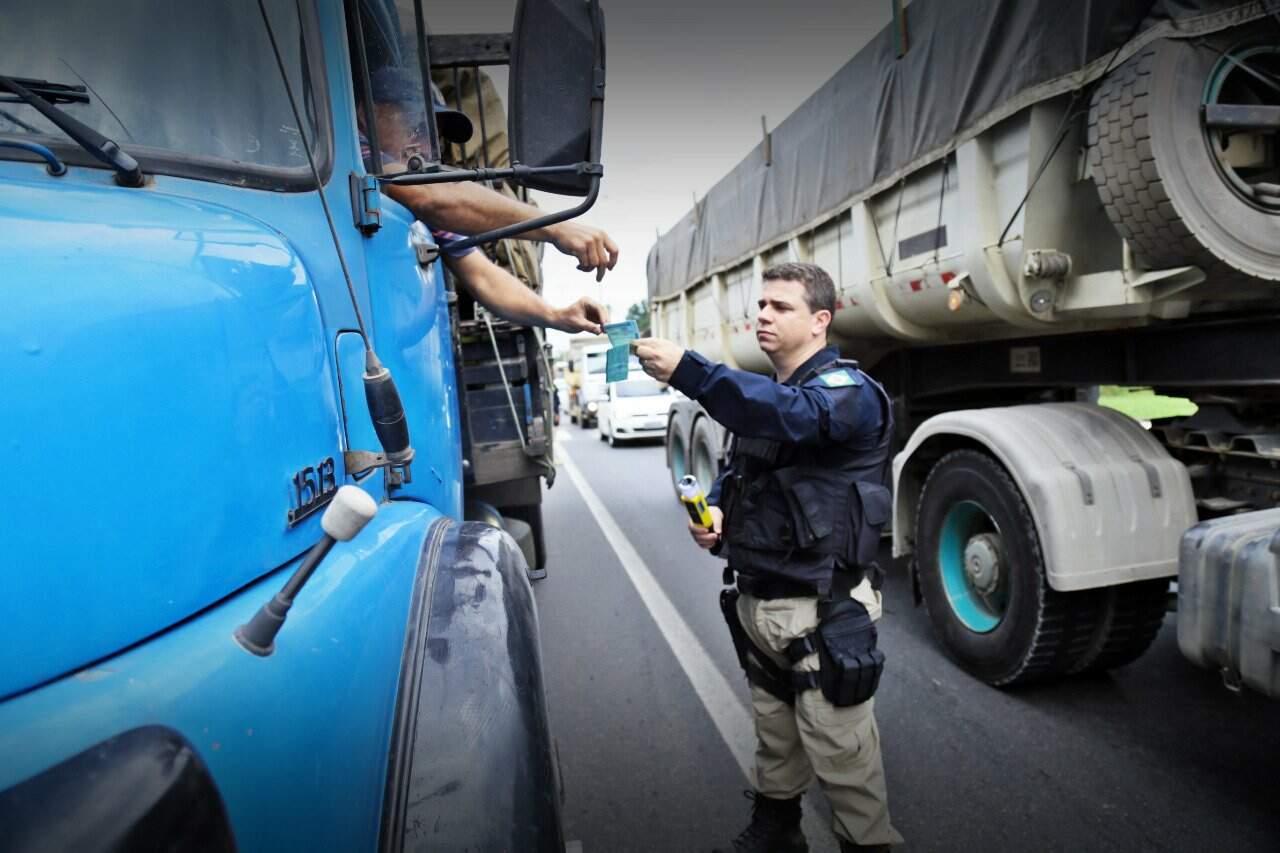
[[[731,569],[826,594],[832,571],[873,558],[890,508],[890,409],[856,364],[827,347],[780,383],[686,351],[671,384],[733,434],[708,496],[726,511]]]

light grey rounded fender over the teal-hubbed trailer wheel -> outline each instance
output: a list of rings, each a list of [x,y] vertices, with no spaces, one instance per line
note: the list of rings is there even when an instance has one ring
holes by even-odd
[[[1088,403],[975,409],[924,421],[893,459],[893,556],[915,549],[916,503],[933,464],[980,450],[1018,484],[1039,535],[1048,584],[1093,589],[1178,574],[1196,524],[1185,466],[1142,425]]]

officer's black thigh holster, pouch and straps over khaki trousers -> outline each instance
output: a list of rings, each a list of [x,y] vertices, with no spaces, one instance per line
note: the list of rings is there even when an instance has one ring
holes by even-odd
[[[884,653],[876,648],[876,624],[867,607],[849,597],[855,585],[851,580],[851,573],[837,573],[832,597],[818,602],[818,628],[787,646],[786,654],[792,666],[817,652],[817,672],[787,670],[774,663],[751,642],[737,617],[739,598],[742,594],[755,596],[753,585],[763,588],[758,584],[773,587],[786,581],[762,581],[740,575],[739,589],[722,589],[721,612],[733,638],[739,663],[746,671],[746,680],[787,704],[795,704],[797,693],[812,689],[820,689],[827,701],[840,708],[872,698],[884,671]],[[812,596],[812,592],[804,594]]]

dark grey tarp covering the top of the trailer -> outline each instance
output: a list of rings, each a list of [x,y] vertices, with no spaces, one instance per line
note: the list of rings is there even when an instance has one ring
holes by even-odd
[[[906,55],[890,27],[772,132],[649,251],[649,296],[878,192],[1030,104],[1097,79],[1155,38],[1266,14],[1280,0],[915,0]],[[1119,53],[1116,53],[1119,49]]]

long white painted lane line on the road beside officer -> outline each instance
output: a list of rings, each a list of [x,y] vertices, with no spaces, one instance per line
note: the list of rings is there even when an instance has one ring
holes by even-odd
[[[755,767],[755,721],[751,719],[751,712],[737,698],[728,680],[712,661],[712,656],[707,653],[707,648],[689,628],[689,622],[671,603],[671,598],[667,597],[658,579],[653,576],[644,558],[622,533],[618,523],[613,520],[613,514],[605,508],[604,502],[595,494],[595,489],[577,470],[577,465],[570,459],[568,448],[559,453],[557,461],[564,467],[568,479],[573,482],[573,487],[582,496],[586,508],[595,517],[595,523],[600,525],[600,532],[640,594],[640,601],[649,608],[649,615],[658,624],[658,630],[662,631],[662,637],[671,647],[680,667],[685,670],[689,683],[698,693],[698,698],[701,699],[707,713],[710,715],[712,722],[716,724],[721,739],[728,747],[742,775],[754,786],[751,780]],[[818,816],[812,795],[805,794],[805,799],[808,803],[801,826],[809,839],[810,849],[814,853],[833,853],[838,849],[836,836],[826,821]]]

